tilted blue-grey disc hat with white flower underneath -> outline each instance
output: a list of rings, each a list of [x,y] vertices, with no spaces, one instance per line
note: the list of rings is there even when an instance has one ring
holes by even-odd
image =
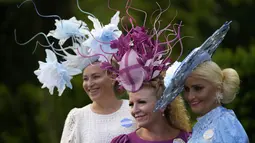
[[[188,75],[201,63],[211,60],[211,57],[219,44],[226,36],[231,22],[226,22],[220,29],[216,30],[200,47],[195,48],[182,61],[175,62],[166,71],[164,79],[165,90],[163,96],[157,101],[155,110],[165,109],[176,96],[178,96],[184,87]]]

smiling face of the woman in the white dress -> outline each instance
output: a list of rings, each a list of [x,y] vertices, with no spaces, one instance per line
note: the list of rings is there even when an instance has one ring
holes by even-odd
[[[83,89],[92,101],[114,93],[114,81],[100,68],[100,63],[89,65],[83,71]]]

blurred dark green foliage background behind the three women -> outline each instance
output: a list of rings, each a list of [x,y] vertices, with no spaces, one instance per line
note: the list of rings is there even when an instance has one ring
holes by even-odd
[[[41,89],[33,71],[45,61],[43,47],[35,50],[36,41],[45,42],[38,36],[25,46],[15,42],[26,42],[38,32],[48,33],[55,29],[54,18],[43,18],[36,14],[31,2],[17,8],[21,0],[0,0],[0,142],[2,143],[57,143],[60,140],[65,118],[74,107],[83,107],[91,101],[82,89],[82,77],[72,80],[73,89],[66,89],[59,97],[55,90],[50,95]],[[87,15],[77,8],[75,0],[34,0],[43,15],[59,15],[62,19],[75,16],[90,27]],[[108,24],[115,11],[108,8],[108,0],[79,0],[80,7],[93,13],[103,24]],[[132,6],[147,12],[146,26],[152,28],[150,15],[161,7],[167,8],[168,0],[133,0]],[[126,0],[110,0],[110,6],[125,15]],[[130,10],[136,23],[142,25],[144,14]],[[254,0],[171,0],[171,6],[162,17],[162,26],[182,21],[181,29],[185,57],[193,48],[202,44],[225,21],[232,20],[231,29],[217,49],[213,60],[222,68],[236,69],[241,78],[241,88],[236,99],[226,105],[235,111],[244,126],[250,142],[255,142],[255,1]],[[155,17],[154,17],[155,18]],[[174,49],[175,56],[180,53]],[[193,117],[193,116],[192,116]],[[193,122],[195,118],[192,118]]]

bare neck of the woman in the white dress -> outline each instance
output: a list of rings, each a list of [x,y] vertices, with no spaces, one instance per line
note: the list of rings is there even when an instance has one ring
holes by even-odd
[[[116,112],[122,105],[122,100],[114,96],[108,96],[106,99],[93,101],[91,110],[98,114],[110,114]]]

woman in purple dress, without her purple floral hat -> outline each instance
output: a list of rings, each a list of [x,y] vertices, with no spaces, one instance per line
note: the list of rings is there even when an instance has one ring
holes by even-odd
[[[156,111],[157,99],[164,91],[162,78],[144,82],[137,92],[129,93],[131,114],[139,128],[120,135],[111,143],[184,143],[190,136],[189,117],[183,99],[177,97],[164,111]]]

